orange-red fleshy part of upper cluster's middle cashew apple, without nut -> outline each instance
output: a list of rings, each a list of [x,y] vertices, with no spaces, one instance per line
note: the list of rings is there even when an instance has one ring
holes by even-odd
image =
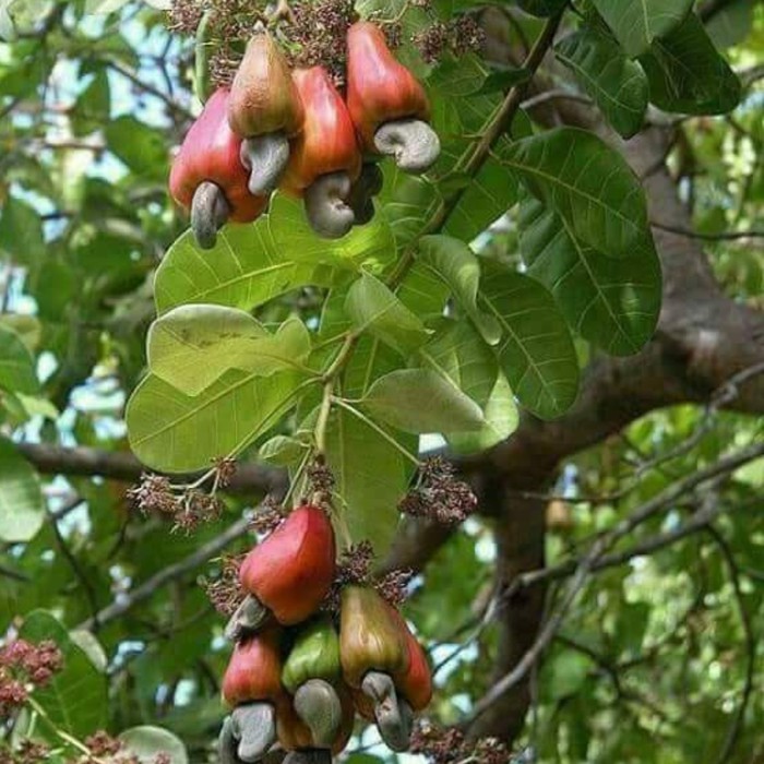
[[[306,119],[291,144],[282,189],[299,196],[320,176],[342,170],[356,180],[361,172],[356,130],[329,72],[323,67],[297,69],[293,79]]]

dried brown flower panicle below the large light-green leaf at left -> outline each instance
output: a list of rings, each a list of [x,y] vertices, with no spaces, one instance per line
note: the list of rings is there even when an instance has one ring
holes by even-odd
[[[223,512],[223,502],[216,496],[196,488],[177,488],[169,478],[151,473],[144,473],[141,482],[127,496],[143,514],[170,517],[172,529],[186,533],[217,520]]]

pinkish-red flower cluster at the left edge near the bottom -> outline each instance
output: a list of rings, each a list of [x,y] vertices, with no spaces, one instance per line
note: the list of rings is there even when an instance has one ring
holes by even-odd
[[[49,640],[37,645],[14,640],[0,649],[0,717],[20,707],[32,688],[45,687],[62,667],[61,650]]]

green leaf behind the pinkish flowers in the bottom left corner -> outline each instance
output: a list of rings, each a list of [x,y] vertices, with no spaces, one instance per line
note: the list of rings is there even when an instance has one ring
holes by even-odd
[[[72,642],[63,625],[49,612],[35,610],[25,617],[20,636],[35,644],[52,640],[63,654],[63,669],[33,693],[50,720],[80,739],[104,729],[108,711],[106,675]],[[45,725],[39,728],[46,730]]]

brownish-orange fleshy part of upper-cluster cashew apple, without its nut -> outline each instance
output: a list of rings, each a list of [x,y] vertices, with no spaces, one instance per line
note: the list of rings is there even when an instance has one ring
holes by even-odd
[[[241,138],[302,129],[305,111],[289,64],[267,32],[255,33],[230,86],[228,121]]]

